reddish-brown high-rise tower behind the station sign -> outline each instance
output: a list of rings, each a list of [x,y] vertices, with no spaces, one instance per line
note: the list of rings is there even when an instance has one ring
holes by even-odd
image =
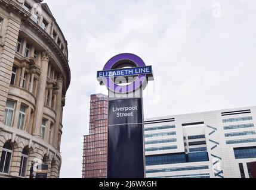
[[[106,95],[91,95],[90,134],[84,136],[83,178],[106,178],[107,106]]]

